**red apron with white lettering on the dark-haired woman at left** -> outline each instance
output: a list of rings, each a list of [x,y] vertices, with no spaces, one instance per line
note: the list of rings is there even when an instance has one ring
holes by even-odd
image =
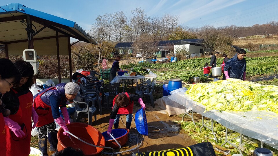
[[[17,91],[12,89],[17,95]],[[22,138],[17,138],[14,132],[12,132],[8,126],[5,126],[6,133],[6,154],[15,156],[22,155],[28,156],[30,154],[30,141],[32,131],[32,92],[28,92],[18,96],[19,109],[15,114],[9,116],[14,122],[17,122],[21,126],[21,130],[25,133]],[[20,147],[20,148],[19,148]]]

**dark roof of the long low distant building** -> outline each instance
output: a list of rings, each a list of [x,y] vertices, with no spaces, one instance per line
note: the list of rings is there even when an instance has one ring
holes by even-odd
[[[167,41],[159,41],[158,42],[158,47],[162,47],[162,46],[169,46],[169,45],[173,45],[173,44],[178,44],[178,43],[184,43],[185,42],[189,43],[189,44],[198,44],[201,45],[202,44],[203,39],[186,39],[186,40],[167,40]],[[132,47],[131,45],[133,44],[133,42],[120,42],[118,44],[116,44],[115,48],[129,48]]]

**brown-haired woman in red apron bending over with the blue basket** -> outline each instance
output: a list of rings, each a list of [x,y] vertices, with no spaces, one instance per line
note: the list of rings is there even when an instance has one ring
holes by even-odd
[[[133,95],[128,92],[122,92],[114,98],[107,133],[111,133],[113,124],[115,129],[118,128],[119,118],[121,114],[127,115],[127,123],[125,128],[130,129],[134,103],[133,101],[138,101],[141,107],[145,110],[146,106],[143,100],[138,95]]]

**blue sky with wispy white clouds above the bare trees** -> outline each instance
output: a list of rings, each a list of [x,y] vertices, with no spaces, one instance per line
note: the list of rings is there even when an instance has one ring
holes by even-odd
[[[88,30],[98,15],[122,10],[127,15],[135,8],[149,16],[177,15],[188,27],[212,25],[252,26],[278,21],[277,0],[1,0],[0,6],[21,3],[29,8],[76,22]]]

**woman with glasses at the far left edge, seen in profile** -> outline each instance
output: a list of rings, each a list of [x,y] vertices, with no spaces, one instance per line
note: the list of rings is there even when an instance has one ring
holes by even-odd
[[[20,74],[12,61],[0,59],[0,155],[6,156],[6,134],[5,122],[3,117],[2,95],[10,91],[10,88],[16,86],[20,81]],[[4,109],[4,111],[7,109]],[[8,115],[4,112],[5,116]],[[29,147],[30,148],[30,147]]]

